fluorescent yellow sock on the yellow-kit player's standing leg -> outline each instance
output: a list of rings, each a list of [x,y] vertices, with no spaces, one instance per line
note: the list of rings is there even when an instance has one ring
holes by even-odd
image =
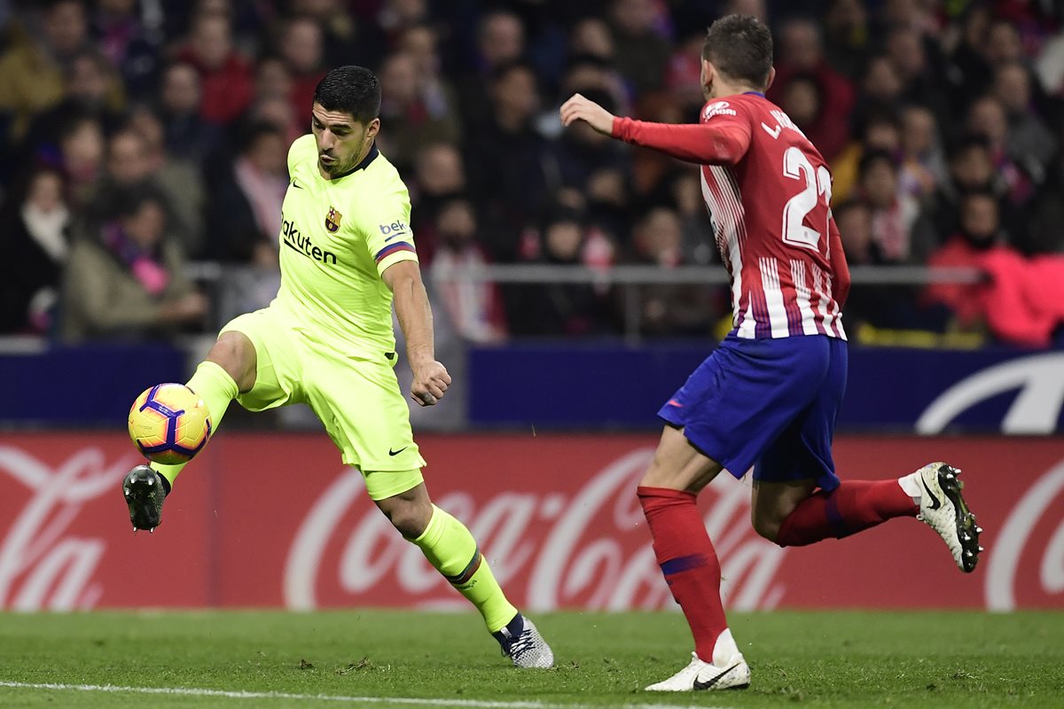
[[[429,526],[413,542],[436,571],[477,606],[489,632],[501,630],[514,620],[517,609],[506,601],[487,559],[464,524],[433,505]]]

